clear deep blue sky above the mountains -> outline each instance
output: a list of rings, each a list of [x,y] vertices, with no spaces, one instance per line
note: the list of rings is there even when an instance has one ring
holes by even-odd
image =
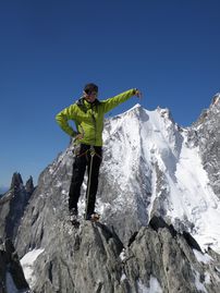
[[[0,186],[37,183],[69,144],[56,113],[88,82],[191,125],[220,90],[219,15],[219,0],[0,0]]]

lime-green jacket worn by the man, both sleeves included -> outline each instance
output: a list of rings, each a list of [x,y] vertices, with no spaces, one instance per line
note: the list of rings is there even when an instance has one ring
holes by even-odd
[[[135,89],[126,90],[115,97],[107,100],[97,100],[94,103],[89,103],[86,99],[81,98],[75,103],[62,110],[57,114],[56,120],[60,127],[74,137],[78,133],[83,133],[83,139],[76,143],[82,143],[93,146],[102,146],[102,130],[103,130],[103,117],[105,113],[115,108],[123,101],[134,96]],[[73,120],[76,125],[77,132],[75,132],[69,121]]]

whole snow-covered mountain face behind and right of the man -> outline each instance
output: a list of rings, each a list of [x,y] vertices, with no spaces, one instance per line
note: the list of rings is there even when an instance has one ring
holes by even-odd
[[[99,188],[106,196],[99,203],[103,213],[115,217],[127,210],[145,225],[152,215],[161,215],[193,233],[203,248],[217,249],[219,199],[188,132],[174,123],[168,109],[148,111],[137,105],[108,120]]]

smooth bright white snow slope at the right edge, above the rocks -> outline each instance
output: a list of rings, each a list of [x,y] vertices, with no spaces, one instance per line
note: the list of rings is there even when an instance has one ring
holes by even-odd
[[[192,223],[199,227],[203,231],[207,217],[215,225],[216,211],[219,215],[218,198],[209,186],[208,176],[203,168],[198,148],[187,148],[183,144],[174,176],[175,181],[169,178],[170,194],[174,208],[171,215],[181,218],[185,215]]]

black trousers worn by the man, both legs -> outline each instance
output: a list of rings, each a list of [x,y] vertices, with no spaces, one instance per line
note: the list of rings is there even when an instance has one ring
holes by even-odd
[[[75,208],[77,210],[77,203],[81,196],[81,186],[83,184],[85,171],[87,168],[88,181],[86,191],[86,216],[91,215],[95,210],[96,194],[98,190],[98,175],[101,163],[101,147],[94,147],[95,155],[89,145],[81,144],[75,160],[73,162],[73,174],[69,192],[69,209]],[[91,158],[93,156],[93,158]],[[93,164],[91,164],[93,161]],[[91,173],[90,173],[91,170]],[[89,185],[89,186],[88,186]]]

